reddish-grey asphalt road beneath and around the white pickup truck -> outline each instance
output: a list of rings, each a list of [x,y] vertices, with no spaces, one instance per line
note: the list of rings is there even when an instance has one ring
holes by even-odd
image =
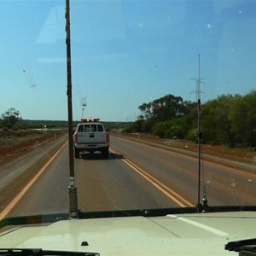
[[[201,177],[209,205],[255,205],[253,172],[204,160]],[[194,157],[119,137],[111,137],[108,160],[101,154],[75,160],[79,209],[84,212],[195,206],[197,183]],[[9,216],[68,212],[68,186],[66,146],[9,207]]]

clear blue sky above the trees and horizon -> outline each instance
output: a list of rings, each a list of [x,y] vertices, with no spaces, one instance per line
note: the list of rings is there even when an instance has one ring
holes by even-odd
[[[255,1],[71,0],[73,119],[134,120],[166,94],[256,88]],[[0,1],[0,113],[67,119],[65,1]]]

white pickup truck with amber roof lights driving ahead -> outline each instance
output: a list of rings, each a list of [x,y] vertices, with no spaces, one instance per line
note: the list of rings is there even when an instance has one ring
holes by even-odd
[[[73,134],[75,158],[80,153],[99,151],[104,158],[108,158],[109,132],[105,131],[100,119],[82,119]]]

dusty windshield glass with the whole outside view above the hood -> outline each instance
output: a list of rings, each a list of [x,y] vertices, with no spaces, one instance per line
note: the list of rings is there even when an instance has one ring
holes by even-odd
[[[67,2],[0,1],[1,219],[256,206],[256,2]]]

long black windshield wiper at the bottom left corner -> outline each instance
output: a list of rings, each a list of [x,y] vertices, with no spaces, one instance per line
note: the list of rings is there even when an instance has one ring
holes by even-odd
[[[68,251],[55,251],[55,250],[43,250],[43,249],[1,249],[0,255],[4,256],[46,256],[46,255],[55,255],[55,256],[100,256],[100,253],[84,253],[84,252],[68,252]]]

